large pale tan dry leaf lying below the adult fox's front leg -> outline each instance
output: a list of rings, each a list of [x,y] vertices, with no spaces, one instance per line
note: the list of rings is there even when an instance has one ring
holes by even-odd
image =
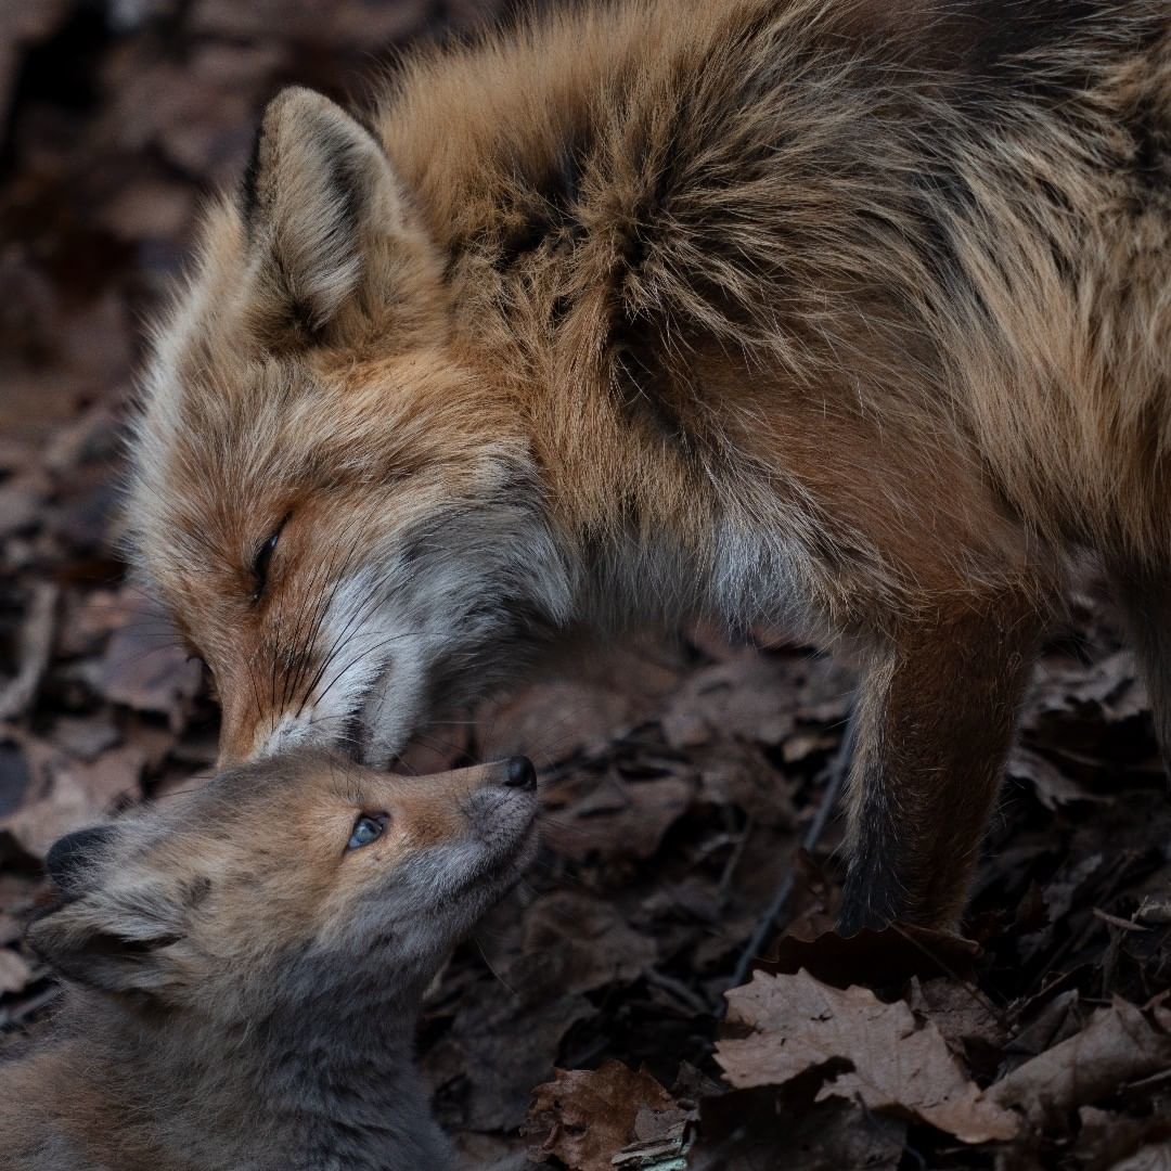
[[[851,1068],[830,1076],[819,1100],[858,1098],[966,1143],[1012,1138],[1019,1129],[1014,1115],[964,1073],[939,1029],[917,1021],[902,1001],[883,1004],[867,988],[834,988],[808,972],[758,972],[727,998],[730,1028],[748,1035],[720,1041],[715,1056],[739,1089],[783,1086],[845,1061]]]

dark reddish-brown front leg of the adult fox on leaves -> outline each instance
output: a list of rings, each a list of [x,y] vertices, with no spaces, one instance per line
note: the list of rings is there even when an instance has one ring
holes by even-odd
[[[959,603],[863,676],[838,930],[953,926],[1000,785],[1039,621],[1023,600]]]

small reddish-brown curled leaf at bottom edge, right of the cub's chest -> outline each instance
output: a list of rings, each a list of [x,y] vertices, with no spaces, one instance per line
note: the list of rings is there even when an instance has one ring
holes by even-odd
[[[555,1155],[570,1171],[611,1171],[623,1148],[667,1132],[686,1112],[645,1070],[608,1061],[601,1069],[556,1070],[533,1090],[528,1118],[528,1134],[545,1135],[532,1158]]]

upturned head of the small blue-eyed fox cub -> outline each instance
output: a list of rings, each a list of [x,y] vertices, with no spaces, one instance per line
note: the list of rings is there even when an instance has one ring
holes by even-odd
[[[523,758],[436,776],[324,754],[221,774],[48,857],[32,946],[67,978],[200,1019],[418,995],[534,849]]]

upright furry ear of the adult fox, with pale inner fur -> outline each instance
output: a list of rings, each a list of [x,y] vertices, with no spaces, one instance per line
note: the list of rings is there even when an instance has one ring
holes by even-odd
[[[436,251],[390,159],[357,119],[290,88],[265,110],[242,213],[255,285],[251,327],[279,349],[430,283]]]

